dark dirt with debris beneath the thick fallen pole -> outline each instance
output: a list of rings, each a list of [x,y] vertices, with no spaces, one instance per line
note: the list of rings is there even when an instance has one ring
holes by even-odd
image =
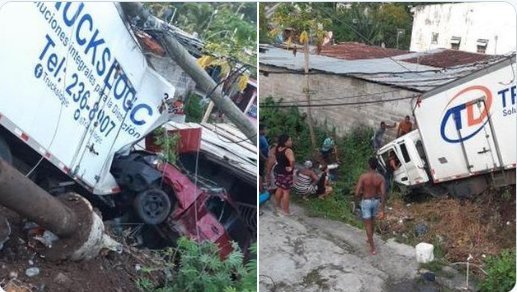
[[[139,278],[137,269],[147,265],[144,253],[128,252],[126,248],[122,254],[101,252],[85,262],[51,262],[42,257],[42,245],[29,242],[28,231],[24,230],[26,222],[2,207],[0,214],[12,229],[0,250],[0,287],[7,292],[139,291],[135,282]],[[25,273],[31,267],[39,268],[40,273],[28,277]]]

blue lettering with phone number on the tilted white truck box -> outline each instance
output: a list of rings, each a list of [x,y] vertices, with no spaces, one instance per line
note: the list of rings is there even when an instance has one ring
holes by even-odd
[[[55,92],[63,104],[77,106],[74,119],[80,124],[84,125],[88,120],[97,122],[99,130],[105,137],[114,133],[115,131],[111,129],[121,123],[125,128],[131,128],[136,133],[134,127],[127,125],[127,122],[135,126],[146,124],[154,114],[153,107],[144,102],[138,102],[136,89],[108,47],[101,31],[95,27],[94,17],[85,11],[84,3],[49,3],[52,6],[47,6],[44,2],[35,4],[57,36],[57,41],[65,46],[68,52],[66,56],[59,56],[59,51],[56,49],[58,44],[51,35],[52,32],[49,32],[38,55],[39,63],[35,66],[36,78],[44,75],[41,79],[45,80],[47,86]],[[67,28],[73,31],[71,33],[65,31]],[[85,57],[82,57],[79,52]],[[77,65],[78,72],[66,76],[66,66],[71,65],[70,63]],[[50,77],[57,80],[50,80]],[[63,84],[57,86],[62,81],[65,82],[65,86]],[[60,91],[59,87],[64,87],[64,92]],[[88,87],[94,88],[93,93],[87,89]],[[73,103],[65,100],[66,94],[70,96]],[[92,98],[95,96],[98,100],[91,108],[88,105],[90,96]],[[108,96],[113,96],[120,102],[121,107],[117,107]],[[105,106],[99,106],[99,102],[105,103]],[[110,115],[113,112],[118,114],[113,117]],[[126,117],[129,119],[127,122]]]

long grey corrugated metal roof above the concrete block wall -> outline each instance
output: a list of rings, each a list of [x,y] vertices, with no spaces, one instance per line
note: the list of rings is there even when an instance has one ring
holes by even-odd
[[[442,51],[435,50],[434,52]],[[494,56],[476,63],[449,68],[426,66],[404,61],[404,58],[414,58],[418,55],[426,55],[426,53],[409,53],[407,56],[399,55],[393,58],[366,60],[343,60],[311,55],[309,62],[311,70],[356,77],[389,86],[425,92],[485,68],[504,58],[504,56]],[[303,72],[303,54],[293,56],[290,51],[270,48],[265,53],[259,55],[259,60],[262,65]],[[261,70],[263,69],[261,68]]]

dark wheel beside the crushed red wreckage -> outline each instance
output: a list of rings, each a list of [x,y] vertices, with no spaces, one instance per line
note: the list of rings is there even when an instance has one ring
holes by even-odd
[[[167,193],[160,189],[149,189],[136,196],[135,211],[146,224],[160,224],[171,212],[171,200]]]

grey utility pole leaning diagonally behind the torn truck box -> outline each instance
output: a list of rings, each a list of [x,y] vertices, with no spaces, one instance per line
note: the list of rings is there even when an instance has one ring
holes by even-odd
[[[123,2],[120,3],[120,6],[124,10],[124,13],[131,18],[138,16],[144,22],[146,20],[161,22],[161,20],[150,14],[149,11],[147,11],[140,3]],[[190,77],[192,77],[202,91],[208,93],[217,86],[215,81],[196,63],[196,59],[189,54],[176,38],[170,35],[165,35],[162,44],[170,54],[169,57],[171,57]],[[237,128],[239,128],[239,130],[248,137],[251,143],[256,144],[257,128],[230,99],[224,97],[223,91],[220,87],[214,90],[210,99],[225,113],[230,121],[232,121],[235,126],[237,126]]]

